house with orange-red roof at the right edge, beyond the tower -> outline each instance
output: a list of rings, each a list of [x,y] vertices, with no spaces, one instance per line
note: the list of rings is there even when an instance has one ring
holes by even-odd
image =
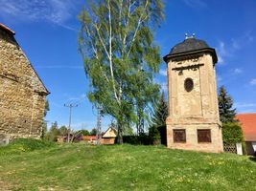
[[[236,117],[242,124],[247,154],[254,155],[256,153],[256,113],[238,114]]]

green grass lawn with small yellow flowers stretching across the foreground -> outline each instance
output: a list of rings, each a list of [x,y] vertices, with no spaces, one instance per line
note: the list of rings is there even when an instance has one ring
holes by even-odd
[[[256,190],[256,161],[162,146],[58,145],[1,154],[0,190]]]

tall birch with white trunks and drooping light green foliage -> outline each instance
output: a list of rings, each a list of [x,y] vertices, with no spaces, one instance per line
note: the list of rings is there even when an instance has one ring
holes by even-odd
[[[88,97],[116,119],[122,143],[125,124],[146,116],[145,108],[159,89],[152,74],[158,72],[161,57],[152,32],[163,20],[162,1],[91,1],[79,19]]]

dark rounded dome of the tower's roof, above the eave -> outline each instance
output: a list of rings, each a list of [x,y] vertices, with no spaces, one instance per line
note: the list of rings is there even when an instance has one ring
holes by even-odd
[[[183,42],[175,45],[175,47],[171,50],[169,54],[187,53],[187,52],[197,51],[205,48],[209,48],[209,46],[205,41],[198,40],[196,38],[187,38]]]

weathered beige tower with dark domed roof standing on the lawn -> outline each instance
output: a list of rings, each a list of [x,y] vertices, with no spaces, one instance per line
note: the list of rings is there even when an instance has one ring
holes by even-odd
[[[194,35],[186,36],[164,60],[168,66],[167,146],[221,153],[215,50]]]

